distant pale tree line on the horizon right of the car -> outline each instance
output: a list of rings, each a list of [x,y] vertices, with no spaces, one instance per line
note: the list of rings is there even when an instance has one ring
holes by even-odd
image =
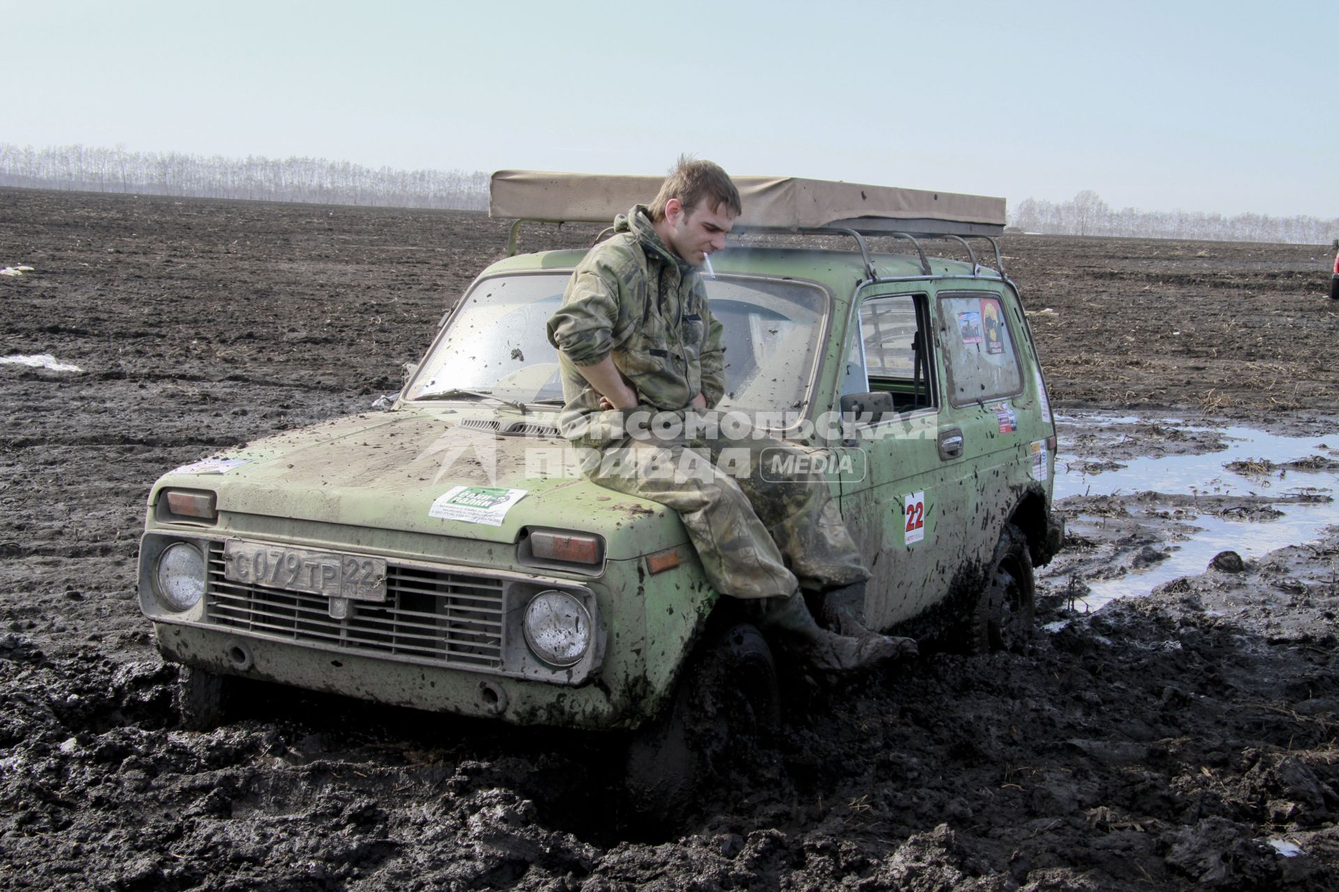
[[[1083,190],[1060,203],[1028,198],[1010,214],[1010,225],[1027,233],[1047,235],[1130,235],[1296,245],[1328,245],[1339,235],[1339,218],[1268,214],[1224,217],[1205,211],[1146,211],[1137,207],[1113,210],[1091,190]]]

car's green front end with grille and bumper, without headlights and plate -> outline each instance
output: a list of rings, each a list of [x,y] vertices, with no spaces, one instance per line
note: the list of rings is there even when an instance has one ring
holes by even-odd
[[[205,594],[185,611],[170,608],[154,582],[158,556],[174,543],[194,546],[206,564]],[[605,618],[589,586],[388,556],[386,588],[384,602],[336,603],[341,599],[238,582],[226,570],[224,540],[205,532],[154,530],[139,548],[141,610],[170,661],[516,723],[620,722],[617,698],[595,683],[611,667]],[[572,666],[545,663],[525,642],[529,599],[552,590],[580,600],[592,621],[590,646]],[[612,669],[620,677],[631,667]]]

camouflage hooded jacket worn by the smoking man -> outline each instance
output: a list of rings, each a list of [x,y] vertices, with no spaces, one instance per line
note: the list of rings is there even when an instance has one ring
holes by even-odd
[[[726,391],[720,322],[702,275],[665,246],[645,211],[637,205],[615,219],[615,234],[572,273],[549,320],[566,399],[560,427],[570,437],[611,420],[577,370],[607,356],[651,409],[683,409],[699,392],[711,408]]]

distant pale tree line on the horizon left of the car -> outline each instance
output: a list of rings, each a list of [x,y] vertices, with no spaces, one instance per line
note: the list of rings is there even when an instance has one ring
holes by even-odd
[[[224,158],[0,143],[0,186],[324,205],[486,210],[489,175],[394,170],[325,158]]]

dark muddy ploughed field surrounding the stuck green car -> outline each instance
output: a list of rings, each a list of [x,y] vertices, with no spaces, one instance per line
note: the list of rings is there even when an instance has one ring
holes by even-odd
[[[0,266],[33,267],[0,277],[0,356],[82,369],[0,365],[0,888],[1339,889],[1339,527],[1085,602],[1287,493],[1067,499],[1027,654],[810,693],[672,832],[623,820],[589,737],[264,689],[179,730],[134,599],[153,479],[395,391],[505,245],[463,213],[0,190]],[[1133,416],[1067,424],[1069,459],[1212,453],[1231,421],[1311,437],[1260,472],[1328,497],[1328,249],[1002,247],[1052,401]]]

